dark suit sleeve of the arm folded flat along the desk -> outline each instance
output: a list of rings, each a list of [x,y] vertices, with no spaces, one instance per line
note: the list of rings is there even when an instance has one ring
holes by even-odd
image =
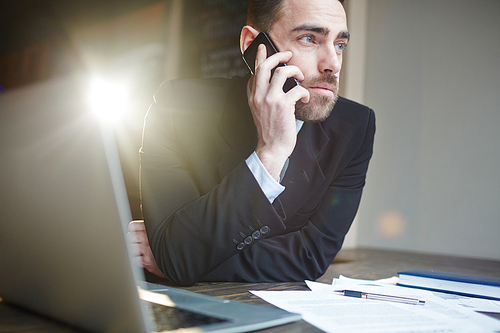
[[[340,250],[356,215],[372,156],[375,116],[369,110],[359,151],[328,186],[304,226],[267,238],[226,260],[206,281],[303,281],[320,277]]]

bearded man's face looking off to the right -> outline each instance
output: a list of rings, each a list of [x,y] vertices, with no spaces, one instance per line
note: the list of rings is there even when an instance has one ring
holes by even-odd
[[[295,116],[326,119],[338,97],[342,52],[349,41],[347,20],[338,0],[284,0],[281,17],[269,31],[280,51],[292,51],[288,62],[305,76],[301,85],[309,103],[298,101]]]

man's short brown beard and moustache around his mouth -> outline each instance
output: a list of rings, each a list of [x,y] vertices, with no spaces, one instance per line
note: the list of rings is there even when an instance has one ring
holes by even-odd
[[[320,122],[326,120],[338,99],[339,85],[333,75],[322,74],[301,82],[304,88],[313,87],[318,83],[333,84],[333,97],[310,94],[309,103],[300,100],[295,104],[295,118],[305,122]]]

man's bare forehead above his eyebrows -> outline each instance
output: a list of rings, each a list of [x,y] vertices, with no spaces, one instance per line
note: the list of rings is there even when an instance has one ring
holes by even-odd
[[[347,30],[344,7],[338,0],[284,0],[271,30],[292,31],[303,25],[328,28],[335,34]]]

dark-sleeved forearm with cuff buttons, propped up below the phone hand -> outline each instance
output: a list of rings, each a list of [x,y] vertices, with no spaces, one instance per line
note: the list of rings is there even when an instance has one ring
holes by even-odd
[[[143,178],[143,210],[151,249],[167,279],[177,284],[193,284],[231,256],[283,229],[244,162],[209,193],[165,211],[168,216],[163,220],[148,205],[154,191],[147,189],[147,176]],[[265,234],[251,237],[263,227],[267,227]],[[252,241],[247,244],[249,236]]]

